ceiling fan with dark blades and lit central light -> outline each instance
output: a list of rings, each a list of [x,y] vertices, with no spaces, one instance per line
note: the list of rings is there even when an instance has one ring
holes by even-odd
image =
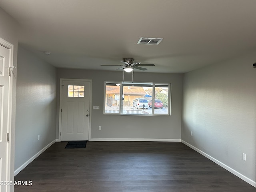
[[[154,64],[141,64],[140,62],[134,63],[133,58],[123,58],[122,61],[123,65],[101,65],[101,66],[122,66],[120,68],[123,68],[125,72],[131,72],[133,69],[138,69],[138,70],[147,70],[147,68],[143,68],[141,66],[155,66]],[[120,69],[118,68],[118,69]],[[116,70],[118,70],[116,69]]]

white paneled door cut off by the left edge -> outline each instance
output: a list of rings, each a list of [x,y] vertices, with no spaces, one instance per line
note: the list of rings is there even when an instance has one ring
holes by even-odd
[[[7,131],[9,126],[9,74],[10,50],[0,45],[0,181],[8,181],[8,142]],[[6,183],[7,184],[7,183]],[[7,186],[0,185],[0,192],[7,191]]]

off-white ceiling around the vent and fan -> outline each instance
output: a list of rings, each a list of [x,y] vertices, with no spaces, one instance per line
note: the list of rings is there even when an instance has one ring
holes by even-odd
[[[184,73],[256,48],[256,0],[0,0],[19,43],[61,68]],[[139,45],[140,37],[164,38]],[[43,52],[51,52],[44,55]],[[138,70],[136,70],[138,71]]]

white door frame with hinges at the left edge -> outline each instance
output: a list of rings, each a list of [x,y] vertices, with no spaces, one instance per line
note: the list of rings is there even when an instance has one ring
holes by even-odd
[[[13,49],[14,46],[13,44],[7,42],[6,40],[0,38],[0,45],[4,46],[9,49],[9,66],[13,67]],[[13,68],[12,68],[13,69]],[[8,71],[5,71],[4,73],[8,74]],[[12,160],[12,151],[11,149],[13,148],[12,146],[12,136],[14,136],[14,133],[12,133],[12,87],[13,87],[13,74],[9,76],[8,80],[8,120],[7,120],[7,133],[9,133],[9,141],[7,142],[7,181],[13,181],[14,178],[11,178],[11,166],[14,166],[14,159]],[[3,139],[6,139],[6,136],[3,136]],[[14,138],[13,138],[14,139]],[[10,191],[10,185],[7,186],[7,191]]]

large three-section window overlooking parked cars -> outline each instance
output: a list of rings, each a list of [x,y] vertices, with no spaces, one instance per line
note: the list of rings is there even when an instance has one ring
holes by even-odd
[[[169,115],[170,84],[105,82],[104,114]]]

